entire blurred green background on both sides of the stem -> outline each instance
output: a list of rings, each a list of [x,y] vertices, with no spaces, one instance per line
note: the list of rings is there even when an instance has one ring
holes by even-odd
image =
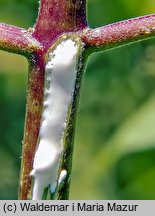
[[[0,0],[0,22],[28,28],[37,0]],[[153,0],[88,0],[91,27],[154,13]],[[27,61],[0,52],[0,199],[17,199]],[[71,199],[155,199],[155,40],[89,58]]]

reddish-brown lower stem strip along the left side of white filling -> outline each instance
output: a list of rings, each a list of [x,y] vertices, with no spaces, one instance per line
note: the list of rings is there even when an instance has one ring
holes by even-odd
[[[33,55],[29,65],[26,120],[23,141],[19,199],[31,199],[30,172],[39,133],[44,84],[42,56]]]

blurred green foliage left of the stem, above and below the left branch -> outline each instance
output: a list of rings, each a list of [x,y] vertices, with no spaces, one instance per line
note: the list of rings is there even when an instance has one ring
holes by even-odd
[[[28,28],[37,1],[0,0],[0,22]],[[27,61],[0,51],[0,199],[17,199],[26,104]]]

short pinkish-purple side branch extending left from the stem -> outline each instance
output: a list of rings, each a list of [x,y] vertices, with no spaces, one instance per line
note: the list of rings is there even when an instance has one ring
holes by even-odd
[[[0,23],[0,49],[27,55],[41,49],[30,30]]]

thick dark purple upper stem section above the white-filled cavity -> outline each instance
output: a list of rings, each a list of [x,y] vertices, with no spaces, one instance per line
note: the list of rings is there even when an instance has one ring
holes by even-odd
[[[87,27],[85,0],[41,0],[33,36],[47,50],[63,33]]]

